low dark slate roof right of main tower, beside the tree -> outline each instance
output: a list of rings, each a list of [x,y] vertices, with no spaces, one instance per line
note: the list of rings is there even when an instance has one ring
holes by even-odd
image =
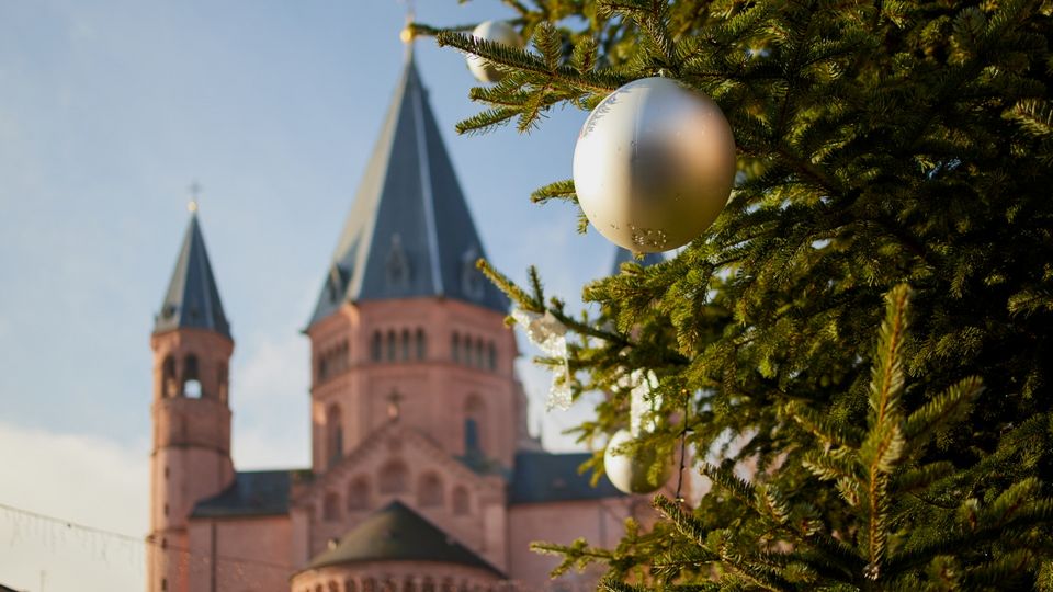
[[[589,473],[578,474],[578,467],[591,456],[589,453],[518,453],[509,491],[509,503],[544,503],[623,497],[624,493],[615,489],[605,476],[600,478],[596,487],[592,487],[589,483]]]

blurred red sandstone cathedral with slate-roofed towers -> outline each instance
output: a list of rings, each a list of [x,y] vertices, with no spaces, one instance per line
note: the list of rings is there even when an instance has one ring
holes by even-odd
[[[305,329],[310,466],[239,471],[234,339],[191,214],[150,340],[146,589],[593,585],[595,573],[550,580],[556,558],[530,543],[613,546],[641,500],[590,486],[577,471],[587,453],[546,453],[530,436],[509,301],[480,257],[410,50]]]

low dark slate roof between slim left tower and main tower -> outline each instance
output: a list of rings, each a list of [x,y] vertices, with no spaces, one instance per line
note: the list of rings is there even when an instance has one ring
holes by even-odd
[[[273,516],[288,513],[288,489],[297,470],[247,470],[217,496],[194,505],[191,517]]]

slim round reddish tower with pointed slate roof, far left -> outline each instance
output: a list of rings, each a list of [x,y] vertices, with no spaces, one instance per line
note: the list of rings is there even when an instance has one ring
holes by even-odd
[[[154,446],[147,590],[151,592],[190,591],[195,557],[188,550],[188,519],[197,501],[234,479],[227,402],[234,340],[194,209],[150,337]]]

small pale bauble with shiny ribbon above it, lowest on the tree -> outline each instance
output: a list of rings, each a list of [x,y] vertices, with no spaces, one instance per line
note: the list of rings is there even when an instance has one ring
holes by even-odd
[[[624,380],[620,384],[625,385]],[[658,395],[652,390],[658,386],[658,378],[650,371],[643,373],[634,371],[629,377],[630,391],[630,429],[619,430],[607,443],[603,454],[603,469],[619,491],[624,493],[653,493],[669,480],[672,475],[672,457],[660,459],[654,447],[636,448],[635,453],[621,451],[622,446],[632,444],[641,435],[653,432],[656,428],[654,413],[661,405]],[[655,478],[650,476],[650,468],[661,463],[661,468]]]

